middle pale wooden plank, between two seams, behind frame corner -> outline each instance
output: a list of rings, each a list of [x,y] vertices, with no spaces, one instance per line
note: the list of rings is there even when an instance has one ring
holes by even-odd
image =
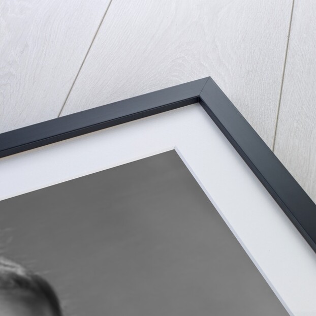
[[[271,146],[291,6],[113,0],[61,115],[211,76]]]

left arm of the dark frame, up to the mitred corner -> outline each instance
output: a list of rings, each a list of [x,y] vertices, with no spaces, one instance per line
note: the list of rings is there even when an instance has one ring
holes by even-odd
[[[0,158],[199,102],[208,77],[0,134]]]

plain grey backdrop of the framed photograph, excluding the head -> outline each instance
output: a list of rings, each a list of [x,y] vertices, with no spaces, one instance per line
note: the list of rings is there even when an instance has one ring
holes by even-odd
[[[0,201],[0,223],[65,315],[289,315],[174,150]]]

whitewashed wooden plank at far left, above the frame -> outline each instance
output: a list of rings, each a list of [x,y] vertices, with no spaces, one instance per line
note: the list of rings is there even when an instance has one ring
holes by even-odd
[[[0,133],[58,116],[108,4],[0,2]]]

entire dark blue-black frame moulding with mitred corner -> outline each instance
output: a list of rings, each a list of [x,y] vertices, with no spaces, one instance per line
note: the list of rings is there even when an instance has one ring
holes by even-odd
[[[316,205],[210,77],[0,134],[0,157],[198,102],[316,252]]]

